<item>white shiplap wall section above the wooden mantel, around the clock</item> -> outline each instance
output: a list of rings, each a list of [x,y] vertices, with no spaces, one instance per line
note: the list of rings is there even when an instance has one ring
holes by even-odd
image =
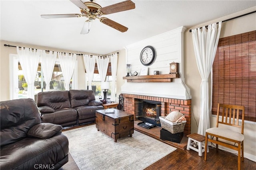
[[[160,74],[168,74],[172,62],[180,63],[180,68],[182,68],[183,53],[180,44],[183,43],[181,34],[184,30],[184,27],[179,27],[173,31],[126,46],[126,63],[131,64],[131,72],[137,71],[139,75],[141,68],[148,67],[148,75],[154,74],[154,70],[159,70]],[[144,66],[140,62],[140,53],[148,45],[156,49],[156,60],[150,66]]]

